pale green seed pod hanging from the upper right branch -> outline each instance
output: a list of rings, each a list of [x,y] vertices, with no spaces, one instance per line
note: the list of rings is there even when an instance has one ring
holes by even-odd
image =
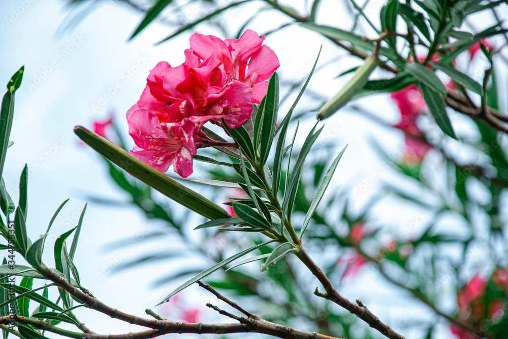
[[[317,114],[317,119],[323,120],[334,114],[339,108],[348,103],[353,96],[365,86],[369,79],[370,73],[379,64],[377,55],[369,55],[365,59],[365,63],[358,67],[353,78],[337,93],[332,99],[321,107]]]

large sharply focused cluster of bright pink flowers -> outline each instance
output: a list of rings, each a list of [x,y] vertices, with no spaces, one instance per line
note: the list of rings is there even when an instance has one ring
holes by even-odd
[[[161,172],[174,164],[175,172],[189,176],[196,149],[210,141],[201,127],[222,119],[230,128],[242,126],[251,103],[265,96],[279,61],[264,40],[250,29],[224,41],[194,33],[181,65],[157,63],[126,115],[136,143],[131,154]]]

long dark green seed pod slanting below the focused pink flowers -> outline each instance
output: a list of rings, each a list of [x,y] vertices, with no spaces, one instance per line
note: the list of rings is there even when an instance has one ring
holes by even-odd
[[[173,199],[177,203],[209,219],[229,217],[228,212],[220,208],[214,202],[136,159],[109,140],[81,126],[77,126],[74,132],[81,140],[90,145],[90,147],[95,149],[103,157],[150,187],[153,187],[153,189],[161,192],[166,197]]]

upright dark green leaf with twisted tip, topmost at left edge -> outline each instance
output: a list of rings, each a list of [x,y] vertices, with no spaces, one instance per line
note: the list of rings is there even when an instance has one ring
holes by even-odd
[[[0,109],[0,177],[4,171],[5,157],[7,147],[9,147],[9,136],[11,135],[12,117],[14,116],[14,93],[21,85],[23,79],[22,66],[7,84],[7,92],[2,99],[2,107]]]

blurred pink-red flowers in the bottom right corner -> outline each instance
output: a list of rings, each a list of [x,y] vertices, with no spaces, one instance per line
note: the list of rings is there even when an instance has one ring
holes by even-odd
[[[492,281],[501,291],[508,293],[508,270],[496,268],[492,273]],[[506,311],[506,304],[501,299],[493,299],[489,305],[484,304],[487,279],[475,274],[457,293],[459,319],[473,326],[481,325],[485,320],[496,323]],[[487,306],[487,313],[486,311]],[[485,316],[487,315],[487,319]],[[451,332],[459,339],[480,339],[475,331],[468,331],[461,326],[452,324]]]

